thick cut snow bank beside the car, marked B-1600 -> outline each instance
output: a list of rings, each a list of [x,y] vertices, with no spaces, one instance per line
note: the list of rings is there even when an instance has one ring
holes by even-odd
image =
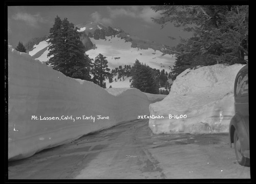
[[[234,80],[243,66],[217,64],[182,72],[169,95],[150,104],[150,114],[162,116],[150,119],[153,133],[227,133],[234,115]]]

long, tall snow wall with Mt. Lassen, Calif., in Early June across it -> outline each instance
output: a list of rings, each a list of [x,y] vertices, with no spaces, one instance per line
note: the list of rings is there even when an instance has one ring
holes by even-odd
[[[150,101],[139,90],[115,96],[13,48],[8,55],[9,160],[149,114]],[[99,115],[104,119],[98,119]]]

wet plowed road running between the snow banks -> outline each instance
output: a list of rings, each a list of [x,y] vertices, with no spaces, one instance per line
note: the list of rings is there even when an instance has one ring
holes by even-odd
[[[8,163],[9,179],[250,178],[228,134],[152,135],[148,121],[122,123]]]

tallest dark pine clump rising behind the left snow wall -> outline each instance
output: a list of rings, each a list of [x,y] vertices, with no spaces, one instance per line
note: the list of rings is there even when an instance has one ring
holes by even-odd
[[[85,55],[85,47],[80,41],[80,33],[67,18],[57,16],[49,34],[49,64],[53,69],[72,78],[91,80],[92,59]]]

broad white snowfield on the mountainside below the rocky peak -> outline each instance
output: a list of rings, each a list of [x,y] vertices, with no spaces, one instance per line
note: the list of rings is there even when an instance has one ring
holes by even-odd
[[[106,37],[106,40],[95,40],[91,38],[91,41],[96,45],[95,49],[88,50],[86,54],[90,58],[95,58],[99,53],[107,57],[109,67],[115,68],[119,65],[133,65],[138,59],[141,63],[146,63],[152,68],[165,69],[169,72],[170,67],[174,65],[175,58],[171,55],[163,55],[159,50],[152,48],[140,49],[132,47],[131,42],[126,42],[125,39],[121,39],[118,36]]]

